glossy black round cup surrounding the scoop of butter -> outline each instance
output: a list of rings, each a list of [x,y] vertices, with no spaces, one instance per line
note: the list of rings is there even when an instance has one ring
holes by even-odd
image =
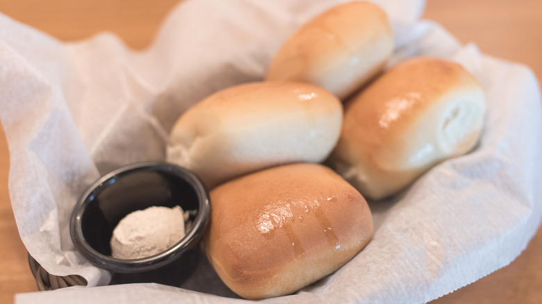
[[[127,214],[151,206],[190,211],[186,235],[166,251],[135,260],[111,256],[110,239]],[[202,181],[166,162],[130,164],[106,174],[81,196],[70,221],[74,245],[91,264],[113,273],[142,273],[179,260],[195,247],[207,227],[211,205]]]

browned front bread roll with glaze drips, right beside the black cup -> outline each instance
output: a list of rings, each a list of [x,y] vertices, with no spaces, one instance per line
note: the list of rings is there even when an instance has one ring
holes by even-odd
[[[249,299],[291,294],[348,262],[372,237],[363,196],[321,164],[289,164],[211,191],[208,260]]]

